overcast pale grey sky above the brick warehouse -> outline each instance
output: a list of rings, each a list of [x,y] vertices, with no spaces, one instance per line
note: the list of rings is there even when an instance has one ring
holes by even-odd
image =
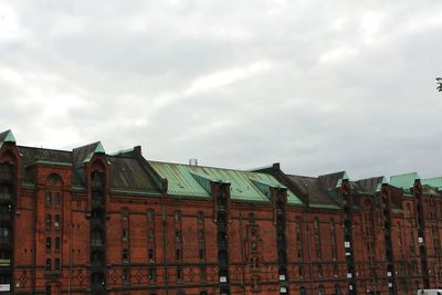
[[[442,1],[0,0],[19,145],[442,176]]]

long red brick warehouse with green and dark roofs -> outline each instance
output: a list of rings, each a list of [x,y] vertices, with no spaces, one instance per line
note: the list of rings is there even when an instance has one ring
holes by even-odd
[[[442,178],[351,181],[71,151],[0,134],[0,294],[415,294]]]

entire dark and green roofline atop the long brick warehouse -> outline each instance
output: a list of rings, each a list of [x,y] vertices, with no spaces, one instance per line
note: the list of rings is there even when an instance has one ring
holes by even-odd
[[[15,138],[11,130],[0,133],[0,147],[4,143],[15,144]],[[70,165],[74,168],[73,185],[82,187],[83,175],[81,168],[88,162],[95,154],[106,155],[102,143],[96,141],[90,145],[74,148],[72,151],[44,149],[35,147],[19,146],[19,151],[23,156],[23,165],[28,166],[35,161]],[[271,167],[253,170],[238,170],[214,167],[203,167],[185,164],[171,164],[143,160],[135,157],[136,148],[122,150],[107,155],[110,164],[112,187],[122,191],[157,191],[158,181],[152,177],[167,179],[168,194],[188,196],[196,198],[210,197],[210,182],[230,183],[231,198],[244,201],[269,201],[269,188],[285,188],[274,176],[265,172]],[[278,165],[277,165],[278,167]],[[288,202],[293,204],[302,203],[302,196],[309,197],[311,206],[335,206],[334,193],[341,182],[349,180],[351,187],[358,191],[376,192],[380,186],[389,183],[397,188],[409,190],[415,180],[421,180],[423,186],[442,190],[442,177],[420,179],[417,172],[403,173],[390,177],[375,177],[361,180],[351,180],[346,171],[323,175],[319,177],[306,177],[286,175],[288,180],[296,186],[296,192],[287,189]],[[27,180],[27,178],[24,178]],[[28,179],[29,180],[29,179]],[[299,194],[299,196],[296,196]]]

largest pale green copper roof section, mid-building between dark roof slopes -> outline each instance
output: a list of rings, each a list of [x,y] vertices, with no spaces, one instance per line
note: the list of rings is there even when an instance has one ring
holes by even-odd
[[[232,200],[269,202],[270,187],[285,188],[265,173],[156,161],[149,161],[149,165],[168,180],[168,193],[175,196],[211,198],[210,182],[223,182],[230,183]],[[301,204],[292,191],[287,190],[287,196],[290,203]]]

